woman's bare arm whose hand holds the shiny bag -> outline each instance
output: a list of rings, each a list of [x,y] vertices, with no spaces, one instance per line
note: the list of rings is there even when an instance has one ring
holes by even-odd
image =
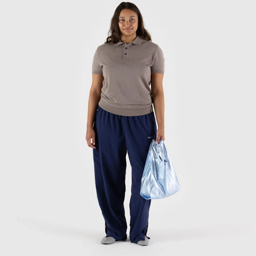
[[[156,121],[157,121],[157,132],[156,132],[156,143],[159,140],[165,140],[164,137],[164,88],[163,88],[163,73],[151,73],[151,92],[152,101],[154,104]]]

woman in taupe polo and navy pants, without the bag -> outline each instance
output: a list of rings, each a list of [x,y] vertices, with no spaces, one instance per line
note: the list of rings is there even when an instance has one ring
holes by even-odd
[[[97,199],[105,219],[101,243],[126,240],[126,152],[132,168],[130,242],[147,245],[151,200],[140,195],[152,139],[164,141],[164,56],[144,28],[139,9],[121,2],[111,35],[95,52],[86,141],[93,149]],[[151,88],[150,88],[151,83]],[[152,109],[154,104],[156,120]]]

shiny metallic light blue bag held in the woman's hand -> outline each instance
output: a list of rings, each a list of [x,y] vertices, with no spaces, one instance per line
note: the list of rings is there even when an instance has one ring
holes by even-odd
[[[144,172],[140,195],[145,199],[161,199],[180,190],[178,178],[163,140],[156,144],[152,139]]]

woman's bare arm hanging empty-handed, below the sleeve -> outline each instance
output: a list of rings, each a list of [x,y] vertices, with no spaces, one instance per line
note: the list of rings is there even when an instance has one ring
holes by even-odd
[[[100,101],[102,82],[104,76],[102,74],[92,75],[92,85],[88,100],[88,115],[87,115],[87,131],[86,141],[89,147],[96,149],[95,147],[95,131],[93,129],[93,122],[95,121],[96,108]],[[91,142],[92,139],[92,142]]]

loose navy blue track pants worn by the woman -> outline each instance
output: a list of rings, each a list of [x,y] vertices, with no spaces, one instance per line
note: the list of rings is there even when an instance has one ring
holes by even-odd
[[[121,116],[98,105],[93,129],[95,184],[106,235],[116,240],[127,238],[124,199],[128,152],[132,171],[129,237],[132,243],[145,240],[151,200],[142,198],[140,186],[150,143],[156,139],[154,111],[140,116]]]

